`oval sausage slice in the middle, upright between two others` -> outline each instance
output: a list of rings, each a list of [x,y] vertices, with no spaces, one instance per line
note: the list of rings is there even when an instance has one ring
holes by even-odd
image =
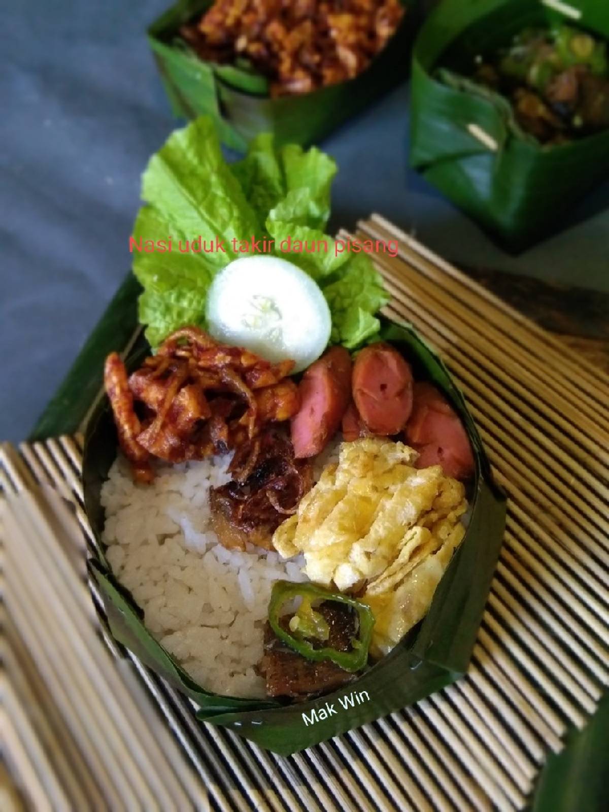
[[[370,344],[353,366],[353,400],[373,434],[398,434],[412,411],[412,369],[386,343]]]

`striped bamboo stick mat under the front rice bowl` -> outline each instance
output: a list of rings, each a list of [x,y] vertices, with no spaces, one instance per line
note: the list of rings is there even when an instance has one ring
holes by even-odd
[[[201,808],[209,798],[214,810],[510,812],[525,807],[546,753],[594,713],[609,681],[609,376],[386,220],[374,216],[360,230],[400,241],[400,257],[378,257],[393,296],[387,315],[411,321],[447,361],[508,492],[507,533],[468,674],[288,758],[199,725],[190,702],[135,658],[110,640],[123,659],[102,649],[84,592],[82,551],[93,539],[79,439],[4,446],[11,653],[3,713],[15,739],[23,732],[15,770],[30,776],[32,794],[78,797],[71,808],[79,810],[97,808],[89,793],[108,793],[104,801],[114,793],[122,806],[110,808],[121,809]],[[93,598],[99,605],[94,590]],[[67,607],[76,605],[80,620],[68,628]],[[86,646],[75,647],[75,634]],[[110,667],[128,674],[117,680]],[[42,719],[40,707],[49,708]],[[62,763],[51,746],[55,722]]]

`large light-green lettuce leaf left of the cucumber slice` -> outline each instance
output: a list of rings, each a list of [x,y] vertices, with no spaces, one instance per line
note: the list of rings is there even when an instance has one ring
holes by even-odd
[[[166,253],[137,251],[133,273],[144,287],[138,315],[154,347],[184,323],[205,322],[205,296],[214,274],[238,255],[231,240],[263,231],[243,188],[222,156],[214,123],[202,117],[176,130],[150,158],[142,178],[143,206],[133,227],[136,244],[168,240]],[[180,243],[223,240],[226,253],[180,253]]]

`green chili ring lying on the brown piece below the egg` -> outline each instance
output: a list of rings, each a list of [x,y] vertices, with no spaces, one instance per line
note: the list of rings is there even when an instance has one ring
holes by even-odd
[[[294,634],[289,633],[279,624],[280,612],[292,598],[303,598],[303,601],[306,602],[302,620],[299,620],[297,624],[291,624],[296,627]],[[309,641],[300,637],[299,633],[310,633],[311,637],[317,637],[322,641],[327,639],[324,625],[320,623],[320,619],[323,620],[322,615],[314,611],[311,606],[311,601],[318,599],[343,603],[356,611],[358,621],[357,637],[352,641],[351,651],[339,651],[330,648],[330,646],[316,649],[313,648]],[[368,662],[374,615],[369,606],[360,603],[355,598],[350,598],[348,595],[330,592],[322,586],[317,586],[317,584],[294,584],[291,581],[275,581],[270,594],[269,623],[270,628],[273,629],[279,640],[290,646],[298,654],[302,654],[306,659],[317,662],[329,659],[343,668],[344,671],[350,673],[360,671]]]

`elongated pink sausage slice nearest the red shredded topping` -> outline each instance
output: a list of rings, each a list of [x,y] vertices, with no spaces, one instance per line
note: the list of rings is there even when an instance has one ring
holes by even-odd
[[[298,387],[300,409],[292,417],[296,458],[319,454],[339,428],[351,397],[351,356],[332,347],[309,366]]]

